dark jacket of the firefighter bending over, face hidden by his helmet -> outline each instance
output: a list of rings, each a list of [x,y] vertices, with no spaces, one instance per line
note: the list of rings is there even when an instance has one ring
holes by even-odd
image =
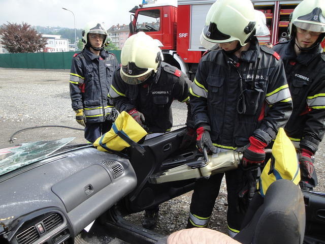
[[[126,84],[120,76],[120,69],[116,69],[109,95],[119,112],[135,108],[143,113],[149,133],[166,132],[173,125],[173,100],[187,102],[190,85],[191,81],[184,73],[161,62],[157,73],[138,85]]]

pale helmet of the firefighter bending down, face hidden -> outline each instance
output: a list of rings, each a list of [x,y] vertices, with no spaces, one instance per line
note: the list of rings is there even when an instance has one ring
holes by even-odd
[[[129,37],[121,51],[121,78],[127,84],[140,84],[157,72],[163,54],[160,41],[144,32]]]

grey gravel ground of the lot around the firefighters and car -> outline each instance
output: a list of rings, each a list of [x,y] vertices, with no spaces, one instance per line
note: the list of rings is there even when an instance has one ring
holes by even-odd
[[[75,121],[69,96],[68,70],[22,70],[0,68],[0,148],[12,146],[10,136],[18,130],[36,126],[68,126],[82,129]],[[173,103],[174,125],[185,124],[186,107]],[[55,140],[76,137],[74,143],[85,143],[83,131],[57,127],[45,127],[23,131],[14,136],[14,143]],[[319,186],[316,191],[325,192],[323,142],[315,155],[315,168]],[[226,190],[222,188],[215,203],[209,228],[226,233]],[[155,231],[170,234],[185,228],[189,212],[191,192],[160,205],[159,222]],[[126,219],[141,225],[144,212]]]

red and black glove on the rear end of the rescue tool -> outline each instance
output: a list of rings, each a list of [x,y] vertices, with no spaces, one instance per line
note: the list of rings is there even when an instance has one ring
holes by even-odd
[[[256,139],[255,137],[249,137],[249,144],[243,151],[243,166],[248,164],[259,164],[265,160],[264,148],[267,144],[263,141]]]

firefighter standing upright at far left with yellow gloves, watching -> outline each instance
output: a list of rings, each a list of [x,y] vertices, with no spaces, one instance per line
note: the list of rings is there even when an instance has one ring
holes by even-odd
[[[106,119],[113,108],[107,95],[118,62],[114,54],[104,50],[106,38],[103,24],[87,23],[82,39],[85,48],[72,59],[72,108],[77,122],[85,127],[85,138],[89,142],[94,142],[112,126]]]

